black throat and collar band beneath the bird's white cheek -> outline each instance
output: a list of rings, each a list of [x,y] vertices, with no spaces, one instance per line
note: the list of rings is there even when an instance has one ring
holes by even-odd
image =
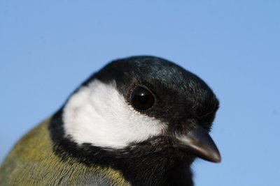
[[[190,164],[194,157],[183,156],[178,149],[166,146],[165,137],[117,150],[91,144],[78,146],[71,137],[64,136],[62,109],[52,117],[49,129],[53,150],[62,160],[111,167],[121,171],[132,185],[193,185]]]

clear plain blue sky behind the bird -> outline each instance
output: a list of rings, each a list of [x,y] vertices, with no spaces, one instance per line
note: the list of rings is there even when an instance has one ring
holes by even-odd
[[[139,54],[221,101],[223,161],[197,160],[197,185],[279,185],[280,1],[0,1],[0,161],[92,72]]]

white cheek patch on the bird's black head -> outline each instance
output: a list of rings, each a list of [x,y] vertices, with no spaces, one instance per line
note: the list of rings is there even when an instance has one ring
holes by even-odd
[[[64,107],[64,130],[78,144],[123,148],[162,134],[167,125],[135,111],[116,83],[94,80],[73,94]]]

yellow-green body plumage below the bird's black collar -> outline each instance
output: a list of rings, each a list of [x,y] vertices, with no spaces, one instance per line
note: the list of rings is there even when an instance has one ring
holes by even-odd
[[[0,167],[0,185],[130,185],[114,169],[57,157],[49,122],[43,121],[18,141]]]

